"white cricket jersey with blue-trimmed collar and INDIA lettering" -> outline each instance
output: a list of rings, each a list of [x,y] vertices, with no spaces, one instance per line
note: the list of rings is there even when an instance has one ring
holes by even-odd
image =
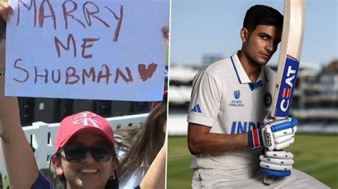
[[[237,52],[208,65],[195,76],[188,122],[210,126],[210,132],[217,134],[241,134],[261,126],[270,112],[276,74],[262,66],[257,82],[251,82]],[[262,152],[262,147],[247,147],[227,153],[197,155],[190,168],[246,168],[259,163]]]

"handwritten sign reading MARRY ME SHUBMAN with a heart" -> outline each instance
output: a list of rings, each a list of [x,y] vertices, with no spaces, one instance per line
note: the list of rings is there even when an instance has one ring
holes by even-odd
[[[6,95],[162,99],[169,1],[10,0]]]

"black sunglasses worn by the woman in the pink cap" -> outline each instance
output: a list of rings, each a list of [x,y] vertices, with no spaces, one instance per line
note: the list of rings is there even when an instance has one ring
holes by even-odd
[[[81,146],[67,145],[61,151],[64,151],[67,161],[71,163],[79,163],[86,158],[89,151],[96,162],[106,162],[111,159],[113,147],[108,146]]]

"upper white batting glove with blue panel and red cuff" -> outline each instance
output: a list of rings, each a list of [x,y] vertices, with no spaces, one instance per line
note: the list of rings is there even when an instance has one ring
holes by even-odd
[[[270,151],[290,146],[295,141],[297,119],[285,118],[268,121],[262,128],[248,132],[250,148],[265,146]]]

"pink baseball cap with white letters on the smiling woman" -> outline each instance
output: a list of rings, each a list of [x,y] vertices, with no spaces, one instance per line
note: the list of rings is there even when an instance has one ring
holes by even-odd
[[[82,131],[93,131],[101,134],[114,144],[114,133],[109,121],[93,112],[86,111],[73,114],[61,121],[56,134],[56,151],[65,146],[73,136]]]

